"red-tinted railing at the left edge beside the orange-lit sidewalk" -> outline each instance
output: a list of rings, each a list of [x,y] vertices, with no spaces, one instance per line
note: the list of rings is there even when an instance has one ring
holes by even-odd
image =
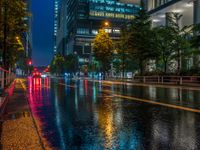
[[[5,89],[14,79],[14,73],[0,67],[0,89]]]

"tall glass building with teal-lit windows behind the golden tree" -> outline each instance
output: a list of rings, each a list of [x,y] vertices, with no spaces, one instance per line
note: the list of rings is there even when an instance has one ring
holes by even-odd
[[[119,0],[62,0],[57,52],[77,54],[79,64],[89,63],[92,40],[98,30],[104,28],[112,39],[119,39],[121,26],[133,19],[139,9],[137,4]]]

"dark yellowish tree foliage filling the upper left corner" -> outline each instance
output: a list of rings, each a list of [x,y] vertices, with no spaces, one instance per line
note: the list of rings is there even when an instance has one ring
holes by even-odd
[[[12,67],[16,61],[21,37],[27,30],[25,18],[28,17],[23,0],[1,0],[0,3],[0,47],[4,67]],[[22,39],[21,39],[22,40]]]

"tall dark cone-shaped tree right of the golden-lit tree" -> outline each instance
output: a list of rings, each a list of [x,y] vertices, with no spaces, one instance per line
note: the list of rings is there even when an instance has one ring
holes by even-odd
[[[128,39],[126,43],[129,54],[134,62],[137,61],[140,74],[143,74],[145,63],[157,56],[152,40],[154,32],[151,30],[149,14],[141,9],[132,22],[127,25],[127,28]]]

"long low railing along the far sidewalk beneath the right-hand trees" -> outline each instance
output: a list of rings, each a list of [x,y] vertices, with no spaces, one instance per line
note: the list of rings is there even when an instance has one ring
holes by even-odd
[[[132,78],[108,78],[134,83],[176,84],[200,86],[200,76],[134,76]]]

